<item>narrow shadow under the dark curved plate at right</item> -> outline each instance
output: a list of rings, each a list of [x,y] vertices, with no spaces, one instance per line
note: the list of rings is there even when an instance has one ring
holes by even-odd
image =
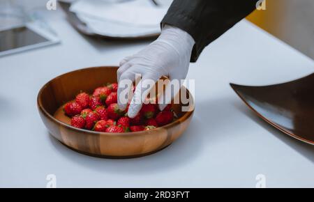
[[[298,153],[306,157],[308,160],[311,160],[311,162],[314,162],[314,146],[304,143],[303,141],[299,141],[297,139],[294,139],[293,137],[290,137],[289,135],[277,130],[275,127],[269,125],[269,123],[266,123],[261,118],[259,118],[253,111],[248,109],[244,104],[240,104],[239,102],[234,103],[234,106],[241,111],[241,113],[245,114],[249,118],[251,118],[255,123],[258,123],[264,129],[268,130],[271,134],[274,134],[274,136],[287,145],[289,145],[291,148],[296,150]]]

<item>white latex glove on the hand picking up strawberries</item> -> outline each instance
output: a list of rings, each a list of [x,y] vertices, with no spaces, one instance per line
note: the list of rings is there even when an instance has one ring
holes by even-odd
[[[188,66],[190,65],[190,56],[195,44],[194,39],[190,34],[186,33],[177,27],[165,25],[161,31],[160,36],[150,45],[142,49],[133,56],[126,57],[120,62],[120,68],[117,71],[117,77],[119,82],[118,88],[118,105],[119,109],[126,109],[126,102],[122,103],[119,96],[126,98],[126,86],[122,85],[121,81],[129,79],[135,81],[135,75],[140,74],[142,79],[137,84],[134,92],[134,96],[130,102],[128,108],[128,116],[133,118],[142,108],[142,100],[149,94],[147,89],[140,88],[139,86],[145,86],[146,79],[152,79],[157,81],[160,77],[167,76],[170,81],[172,79],[185,79],[188,73]],[[178,92],[170,93],[170,88],[166,86],[163,95],[158,98],[163,100],[165,95],[173,97]],[[152,87],[152,86],[151,86]],[[130,90],[130,86],[127,89]],[[178,90],[179,91],[179,90]],[[169,97],[169,96],[168,96]],[[124,99],[125,100],[125,99]],[[165,102],[159,104],[159,109],[163,110],[172,98],[165,97]]]

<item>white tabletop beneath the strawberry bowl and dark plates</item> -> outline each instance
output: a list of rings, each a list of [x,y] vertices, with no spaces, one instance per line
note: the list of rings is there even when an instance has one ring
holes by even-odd
[[[188,79],[195,114],[171,146],[128,160],[89,157],[48,134],[36,107],[43,84],[71,70],[117,65],[149,43],[86,38],[60,12],[47,15],[62,43],[0,58],[0,187],[314,187],[314,147],[257,118],[230,82],[275,84],[314,70],[313,60],[245,20],[211,43]],[[90,78],[92,79],[92,78]]]

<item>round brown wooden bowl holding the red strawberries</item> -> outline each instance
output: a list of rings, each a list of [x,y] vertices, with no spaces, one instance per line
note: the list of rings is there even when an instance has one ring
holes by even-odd
[[[75,70],[45,84],[38,93],[37,104],[40,117],[50,134],[80,153],[97,157],[124,158],[139,157],[161,150],[169,146],[188,127],[194,111],[194,100],[188,91],[190,104],[181,104],[181,101],[180,104],[174,104],[177,120],[153,130],[126,133],[94,132],[72,127],[67,124],[66,119],[55,118],[56,111],[58,114],[58,109],[69,100],[73,100],[77,93],[80,91],[92,93],[94,88],[107,82],[117,82],[117,67]],[[181,107],[188,105],[190,110],[181,111]]]

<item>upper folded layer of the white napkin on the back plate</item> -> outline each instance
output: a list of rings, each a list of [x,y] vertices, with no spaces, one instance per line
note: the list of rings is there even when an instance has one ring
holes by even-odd
[[[116,2],[116,3],[112,3]],[[80,0],[70,6],[70,11],[84,17],[119,24],[156,27],[167,13],[168,6],[155,6],[151,0]]]

